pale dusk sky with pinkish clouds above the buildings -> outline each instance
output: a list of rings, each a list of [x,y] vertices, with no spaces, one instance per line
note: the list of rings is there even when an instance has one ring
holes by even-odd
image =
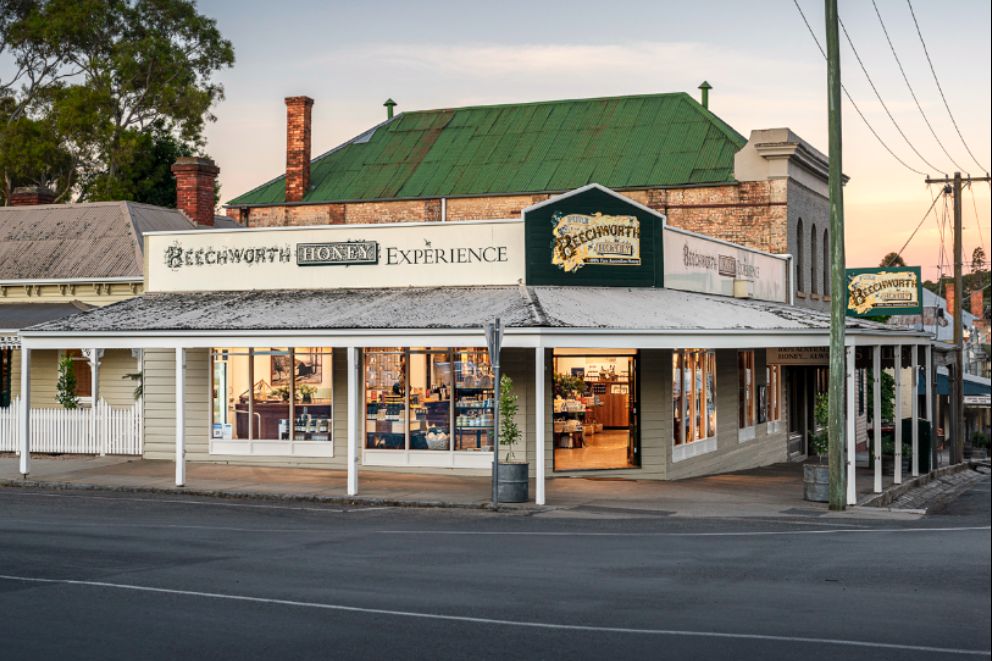
[[[824,43],[823,2],[798,4]],[[851,267],[875,266],[902,247],[939,192],[924,183],[927,175],[960,169],[984,176],[992,168],[987,0],[913,2],[964,142],[941,101],[908,3],[876,4],[936,139],[872,2],[840,0],[841,20],[898,128],[842,32],[844,85],[882,141],[906,163],[879,144],[845,100],[843,168],[851,178],[844,192],[845,243]],[[317,155],[385,119],[387,98],[402,111],[656,92],[698,95],[706,80],[713,86],[710,110],[744,136],[785,126],[827,151],[826,64],[792,0],[199,0],[197,5],[217,20],[237,58],[232,69],[217,75],[225,98],[214,108],[217,121],[206,130],[206,152],[221,168],[222,200],[282,173],[283,98],[295,95],[315,100]],[[966,190],[962,205],[967,269],[976,246],[992,252],[989,185]],[[903,252],[907,264],[923,267],[925,278],[935,278],[941,262],[945,273],[953,268],[950,214],[949,201],[938,201]]]

